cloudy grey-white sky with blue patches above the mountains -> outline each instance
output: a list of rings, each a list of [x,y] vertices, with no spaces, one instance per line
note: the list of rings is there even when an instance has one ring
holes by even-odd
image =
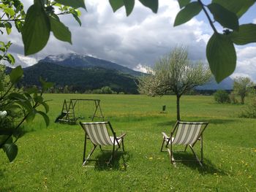
[[[28,9],[31,1],[23,2]],[[2,36],[4,41],[11,39],[10,52],[15,55],[16,64],[31,66],[47,55],[78,53],[143,70],[145,66],[153,66],[159,56],[176,45],[186,45],[192,60],[206,60],[206,43],[213,34],[206,16],[200,13],[188,23],[174,28],[173,22],[179,11],[176,0],[160,0],[157,14],[135,1],[135,8],[128,18],[124,7],[113,13],[107,0],[87,0],[86,7],[87,12],[81,9],[81,27],[72,16],[61,18],[72,32],[72,45],[51,35],[42,51],[25,57],[21,35],[14,28],[9,36]],[[256,23],[256,13],[252,11],[255,8],[251,7],[240,23]],[[249,76],[256,82],[256,44],[237,46],[236,50],[238,62],[232,77]]]

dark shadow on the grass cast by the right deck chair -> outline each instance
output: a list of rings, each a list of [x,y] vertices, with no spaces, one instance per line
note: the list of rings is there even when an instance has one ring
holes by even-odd
[[[203,158],[203,167],[200,166],[198,161],[195,159],[195,155],[192,153],[187,152],[176,152],[174,153],[175,160],[192,160],[192,161],[181,161],[176,162],[177,166],[178,164],[184,164],[184,166],[189,167],[190,169],[195,169],[200,174],[217,174],[217,175],[228,175],[227,172],[225,172],[223,169],[220,169],[219,167],[215,166],[211,163],[210,160]],[[195,160],[195,161],[194,161]]]

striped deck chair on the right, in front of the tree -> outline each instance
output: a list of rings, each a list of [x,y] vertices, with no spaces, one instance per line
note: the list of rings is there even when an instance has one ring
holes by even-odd
[[[162,132],[163,142],[162,148],[167,148],[167,151],[170,155],[170,163],[175,164],[177,162],[173,158],[173,145],[185,145],[185,150],[187,150],[187,146],[189,146],[192,150],[192,153],[195,155],[196,161],[203,166],[203,131],[205,130],[208,123],[205,122],[181,122],[177,121],[176,125],[173,128],[173,131],[170,133],[170,137],[167,137],[167,134]],[[200,159],[195,154],[195,150],[193,149],[195,143],[200,140]],[[179,160],[181,161],[181,160]],[[191,161],[191,160],[182,160],[182,161]]]

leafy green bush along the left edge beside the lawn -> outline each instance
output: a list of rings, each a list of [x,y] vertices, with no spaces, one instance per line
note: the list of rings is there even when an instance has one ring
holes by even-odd
[[[4,150],[9,161],[13,161],[18,154],[18,146],[15,142],[21,135],[23,122],[34,120],[35,115],[42,115],[46,125],[50,120],[46,113],[49,110],[48,104],[42,98],[42,93],[50,87],[50,83],[41,80],[42,91],[37,88],[28,92],[13,88],[23,76],[20,66],[12,69],[10,75],[5,74],[5,67],[0,66],[0,149]],[[38,107],[42,105],[45,112]]]

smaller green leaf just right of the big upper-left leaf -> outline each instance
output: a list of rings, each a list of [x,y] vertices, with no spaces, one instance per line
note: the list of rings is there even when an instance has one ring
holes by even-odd
[[[67,28],[67,26],[64,26],[64,24],[56,18],[49,17],[49,20],[50,30],[53,31],[53,35],[57,39],[63,42],[69,42],[72,45],[71,32],[69,31],[69,28]]]

